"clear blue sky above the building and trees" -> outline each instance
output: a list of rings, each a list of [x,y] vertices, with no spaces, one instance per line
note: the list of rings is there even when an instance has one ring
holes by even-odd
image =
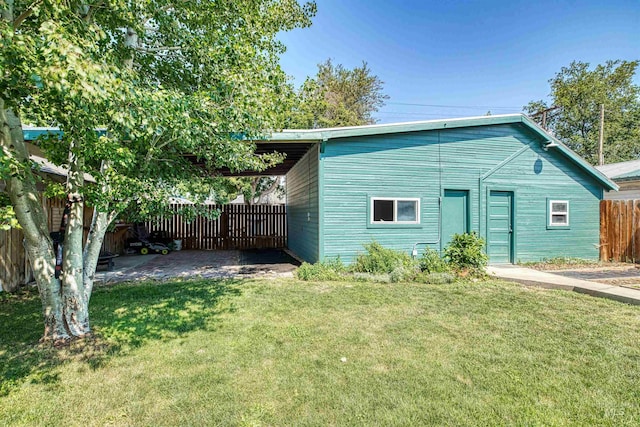
[[[282,67],[299,86],[327,58],[366,61],[390,96],[380,123],[519,112],[573,60],[640,59],[640,0],[316,3],[280,37]]]

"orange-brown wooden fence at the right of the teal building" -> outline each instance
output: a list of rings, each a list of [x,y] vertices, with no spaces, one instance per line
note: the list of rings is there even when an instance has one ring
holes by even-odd
[[[640,260],[640,200],[600,202],[600,259]]]

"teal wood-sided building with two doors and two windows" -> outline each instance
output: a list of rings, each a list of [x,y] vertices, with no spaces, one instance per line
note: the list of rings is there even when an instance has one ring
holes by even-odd
[[[598,258],[599,201],[615,183],[521,114],[316,130],[286,175],[288,247],[346,263],[373,240],[442,250],[476,231],[489,262]]]

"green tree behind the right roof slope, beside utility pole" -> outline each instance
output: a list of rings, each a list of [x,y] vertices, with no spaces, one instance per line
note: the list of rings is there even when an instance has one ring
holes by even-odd
[[[590,69],[572,62],[549,80],[549,102],[532,101],[529,115],[558,107],[547,116],[547,128],[592,164],[598,162],[600,105],[604,104],[606,163],[640,157],[640,87],[633,83],[638,61],[607,61]],[[535,119],[541,122],[542,116]]]

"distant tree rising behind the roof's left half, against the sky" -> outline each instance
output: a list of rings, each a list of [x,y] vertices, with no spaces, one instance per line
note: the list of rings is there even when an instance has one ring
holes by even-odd
[[[288,123],[292,129],[359,126],[376,122],[373,115],[389,97],[383,82],[366,62],[352,70],[331,59],[318,64],[298,92],[298,105]]]

